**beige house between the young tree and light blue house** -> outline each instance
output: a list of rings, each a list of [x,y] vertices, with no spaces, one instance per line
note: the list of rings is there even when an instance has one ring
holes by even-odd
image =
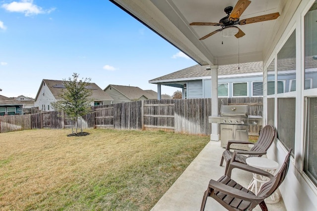
[[[157,92],[143,90],[137,86],[109,84],[104,91],[113,98],[113,103],[158,99]]]

